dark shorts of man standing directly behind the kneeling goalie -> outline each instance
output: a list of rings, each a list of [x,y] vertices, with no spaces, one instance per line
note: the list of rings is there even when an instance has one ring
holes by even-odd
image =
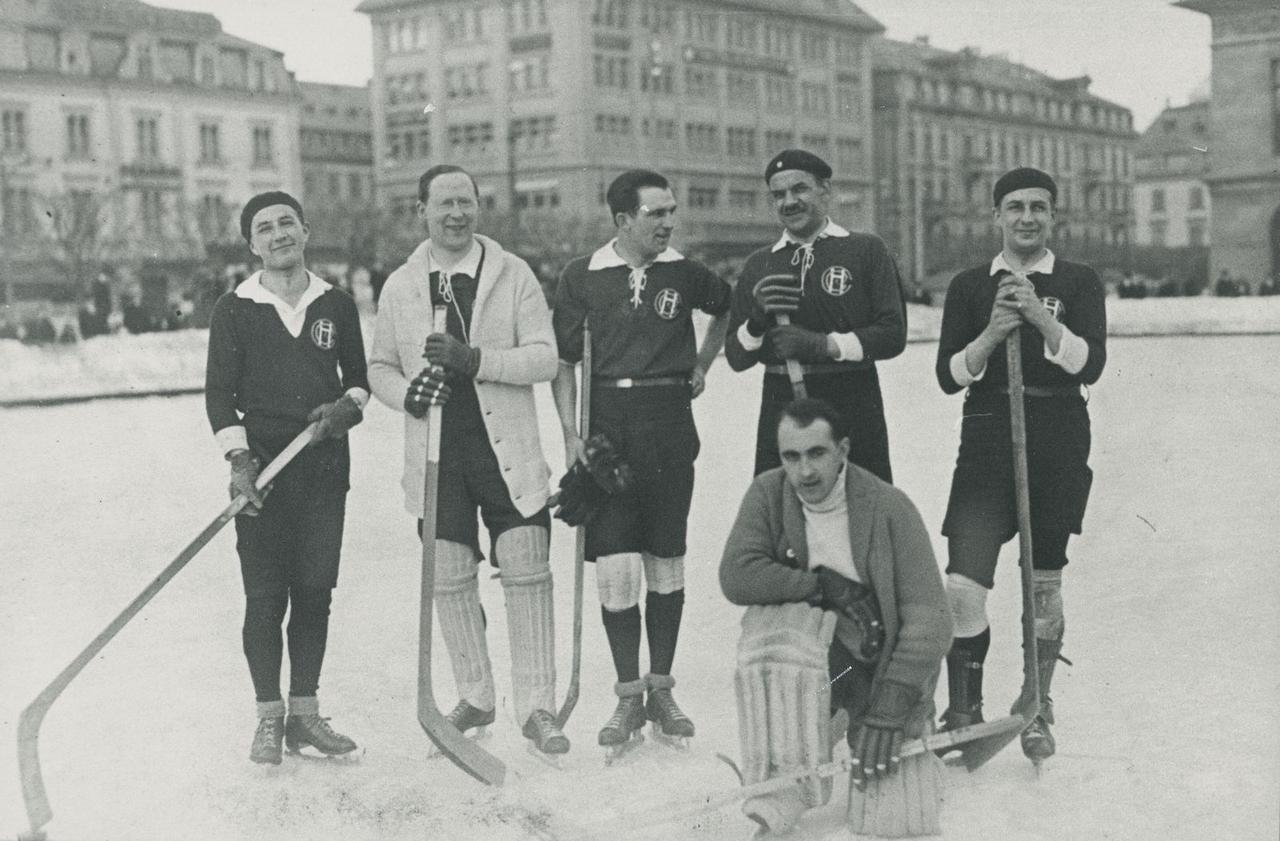
[[[884,481],[893,481],[888,463],[888,430],[884,401],[874,367],[804,378],[809,397],[823,399],[841,413],[849,426],[849,461]],[[794,399],[791,381],[783,374],[765,374],[760,420],[755,429],[755,475],[782,463],[778,457],[778,417]]]

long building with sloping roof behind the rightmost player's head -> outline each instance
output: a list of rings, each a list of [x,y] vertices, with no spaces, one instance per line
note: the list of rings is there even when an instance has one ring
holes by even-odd
[[[991,188],[1014,166],[1059,184],[1053,247],[1119,259],[1132,238],[1133,116],[1089,93],[973,49],[874,41],[877,230],[904,276],[924,282],[1000,248]]]

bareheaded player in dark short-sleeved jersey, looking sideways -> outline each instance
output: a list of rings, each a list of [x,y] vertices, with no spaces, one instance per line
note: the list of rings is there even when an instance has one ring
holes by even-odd
[[[575,412],[573,366],[582,325],[593,348],[591,429],[631,465],[631,486],[609,497],[586,526],[618,705],[599,744],[620,750],[645,719],[675,739],[694,735],[676,705],[671,675],[685,604],[685,530],[694,490],[698,430],[690,399],[701,393],[724,338],[730,287],[669,246],[676,200],[648,170],[618,175],[607,193],[617,237],[564,268],[556,297],[561,369],[553,383],[566,465],[586,461]],[[695,352],[692,311],[713,316]],[[643,576],[641,576],[643,570]],[[649,672],[640,675],[640,588]],[[648,691],[648,699],[645,693]]]

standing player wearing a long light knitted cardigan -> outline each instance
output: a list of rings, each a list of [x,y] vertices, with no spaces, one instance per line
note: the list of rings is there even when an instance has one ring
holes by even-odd
[[[532,388],[556,375],[556,335],[529,265],[475,233],[479,207],[458,166],[433,166],[419,180],[429,238],[387,279],[369,378],[378,399],[404,412],[404,508],[419,517],[426,410],[444,404],[435,605],[461,695],[449,721],[466,732],[493,723],[497,709],[476,581],[479,508],[502,571],[516,721],[532,748],[563,754],[570,742],[553,712],[549,470]],[[431,332],[434,306],[448,308],[444,333]]]

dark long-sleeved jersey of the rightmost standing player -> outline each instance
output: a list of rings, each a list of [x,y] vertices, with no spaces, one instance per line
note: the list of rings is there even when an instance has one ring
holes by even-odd
[[[951,376],[951,357],[978,338],[991,321],[996,287],[1007,273],[991,274],[991,264],[966,269],[955,276],[947,289],[938,337],[938,384],[947,394],[963,385]],[[1057,259],[1052,274],[1028,275],[1042,302],[1056,301],[1057,320],[1089,346],[1089,357],[1079,374],[1068,374],[1044,358],[1044,337],[1029,324],[1021,326],[1023,383],[1041,388],[1071,387],[1096,383],[1107,361],[1106,292],[1093,269],[1079,262]],[[1050,301],[1052,298],[1053,301]],[[974,381],[973,394],[992,394],[1009,388],[1009,367],[1004,351],[987,358],[987,372]]]

